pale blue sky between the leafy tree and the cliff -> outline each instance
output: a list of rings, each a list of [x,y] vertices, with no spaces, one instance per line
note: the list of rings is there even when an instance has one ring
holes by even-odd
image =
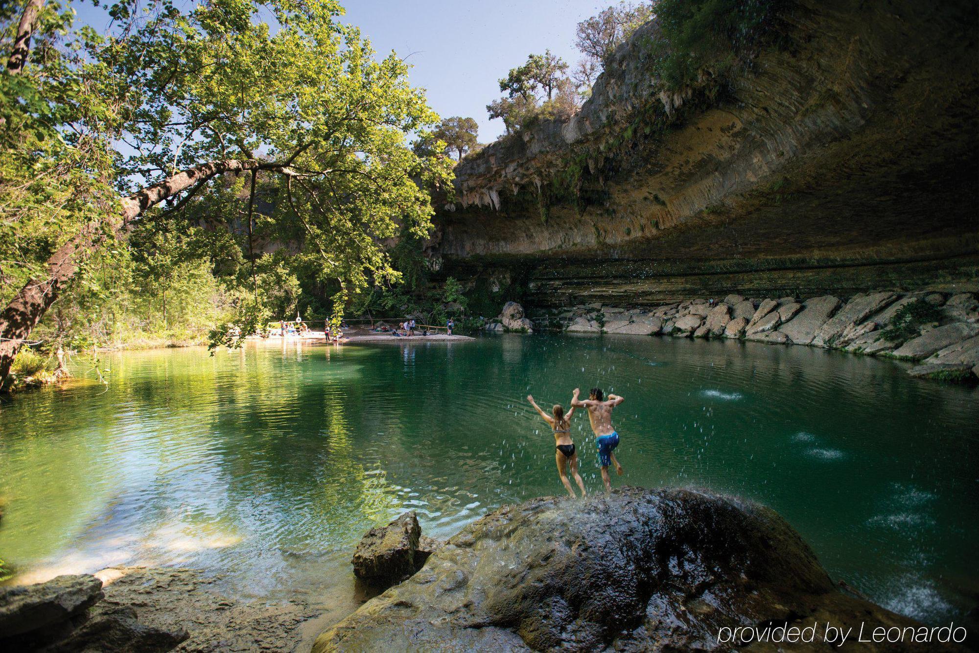
[[[500,97],[497,79],[532,52],[551,52],[574,65],[575,27],[613,0],[347,0],[345,23],[359,26],[379,55],[395,50],[414,69],[441,116],[474,117],[480,142],[503,133],[486,106]],[[414,54],[412,54],[414,53]]]

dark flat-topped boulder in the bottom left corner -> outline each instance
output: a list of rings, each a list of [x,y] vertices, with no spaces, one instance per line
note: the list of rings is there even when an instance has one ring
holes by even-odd
[[[102,581],[87,575],[0,587],[0,639],[68,621],[102,598]]]

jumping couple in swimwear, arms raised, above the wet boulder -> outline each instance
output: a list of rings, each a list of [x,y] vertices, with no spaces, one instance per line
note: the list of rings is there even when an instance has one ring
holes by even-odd
[[[582,391],[576,388],[571,396],[571,409],[566,413],[564,406],[555,403],[548,415],[534,400],[534,396],[528,395],[527,400],[531,402],[534,409],[540,414],[545,422],[550,426],[554,434],[554,444],[556,447],[555,460],[557,462],[557,473],[561,477],[561,483],[565,490],[572,497],[577,498],[575,490],[568,479],[568,469],[571,469],[571,476],[575,479],[579,489],[584,496],[584,484],[582,477],[578,473],[578,450],[571,439],[571,418],[575,414],[576,408],[587,408],[588,421],[591,422],[591,430],[595,434],[595,443],[598,445],[598,464],[602,470],[602,482],[605,484],[606,491],[612,491],[612,478],[609,476],[609,467],[615,466],[615,471],[620,476],[623,474],[623,467],[615,457],[613,451],[619,446],[619,434],[612,428],[612,409],[622,403],[625,399],[618,395],[609,394],[605,396],[600,388],[592,388],[588,393],[588,398],[579,399]]]

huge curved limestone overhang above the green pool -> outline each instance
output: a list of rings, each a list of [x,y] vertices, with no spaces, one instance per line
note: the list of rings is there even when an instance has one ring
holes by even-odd
[[[979,289],[974,5],[770,4],[723,81],[668,92],[648,23],[577,116],[467,157],[443,273],[529,307]]]

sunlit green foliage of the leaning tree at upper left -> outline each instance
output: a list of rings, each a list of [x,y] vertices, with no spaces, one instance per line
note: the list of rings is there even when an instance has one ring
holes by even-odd
[[[14,336],[0,376],[90,257],[173,210],[247,235],[254,303],[272,273],[256,258],[286,236],[341,290],[397,280],[381,243],[402,225],[427,233],[427,189],[450,164],[406,147],[438,117],[400,58],[338,21],[337,2],[133,0],[110,8],[105,33],[57,0],[30,2],[42,7],[23,69],[12,54],[0,73],[0,330]],[[22,7],[0,10],[0,56],[16,54]],[[250,177],[237,202],[228,172]]]

